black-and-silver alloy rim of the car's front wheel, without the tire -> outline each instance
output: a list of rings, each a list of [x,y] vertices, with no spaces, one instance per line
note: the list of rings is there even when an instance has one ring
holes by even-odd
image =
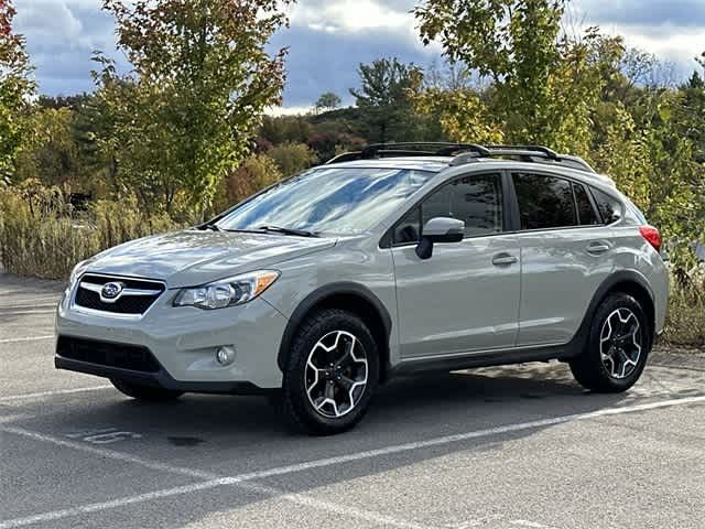
[[[308,401],[316,412],[328,419],[346,415],[367,387],[365,347],[352,334],[333,331],[311,349],[304,377]]]

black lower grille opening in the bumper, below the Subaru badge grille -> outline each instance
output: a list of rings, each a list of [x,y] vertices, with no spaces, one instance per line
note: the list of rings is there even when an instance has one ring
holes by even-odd
[[[161,369],[152,353],[137,345],[59,336],[56,354],[72,360],[132,371],[158,373]]]

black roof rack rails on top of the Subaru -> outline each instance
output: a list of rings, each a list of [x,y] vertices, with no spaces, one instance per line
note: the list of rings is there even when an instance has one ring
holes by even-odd
[[[578,156],[558,154],[543,145],[479,145],[476,143],[448,143],[437,141],[415,141],[402,143],[373,143],[361,151],[345,152],[326,164],[354,160],[372,160],[394,156],[455,156],[451,165],[464,165],[482,158],[516,158],[523,162],[555,163],[563,166],[588,171],[595,170]]]

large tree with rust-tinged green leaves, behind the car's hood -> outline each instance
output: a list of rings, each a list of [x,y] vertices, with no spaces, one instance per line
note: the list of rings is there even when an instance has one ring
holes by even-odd
[[[285,50],[265,51],[290,0],[104,0],[133,67],[96,60],[108,114],[104,148],[149,209],[205,212],[248,155],[265,107],[280,102]]]

